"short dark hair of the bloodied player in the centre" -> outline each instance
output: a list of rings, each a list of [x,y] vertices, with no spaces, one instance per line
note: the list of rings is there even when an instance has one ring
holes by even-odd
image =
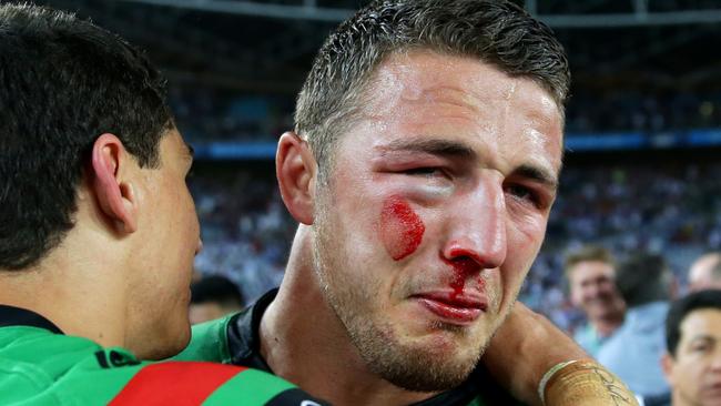
[[[334,142],[364,104],[375,68],[413,49],[477,58],[529,78],[562,114],[570,83],[563,48],[520,7],[506,0],[376,0],[325,41],[298,95],[295,131],[311,145],[321,175]]]

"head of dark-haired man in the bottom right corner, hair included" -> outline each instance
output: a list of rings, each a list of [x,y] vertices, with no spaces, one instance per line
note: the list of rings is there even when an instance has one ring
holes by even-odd
[[[721,290],[674,302],[666,324],[663,373],[673,406],[721,405]]]

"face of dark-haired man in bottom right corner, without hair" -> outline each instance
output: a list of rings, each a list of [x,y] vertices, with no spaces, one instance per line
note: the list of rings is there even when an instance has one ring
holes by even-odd
[[[681,322],[673,357],[663,359],[674,406],[721,405],[721,311],[701,308]]]

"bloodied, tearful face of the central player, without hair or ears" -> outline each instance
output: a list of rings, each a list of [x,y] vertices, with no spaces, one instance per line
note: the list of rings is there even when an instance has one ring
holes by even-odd
[[[549,94],[476,60],[389,57],[318,186],[315,266],[368,367],[458,385],[516,301],[561,166]]]

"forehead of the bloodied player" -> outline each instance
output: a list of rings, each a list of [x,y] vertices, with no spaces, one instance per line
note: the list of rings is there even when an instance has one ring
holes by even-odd
[[[363,116],[376,133],[463,139],[501,170],[517,161],[560,170],[560,111],[530,79],[466,57],[409,51],[376,69],[366,97]]]

